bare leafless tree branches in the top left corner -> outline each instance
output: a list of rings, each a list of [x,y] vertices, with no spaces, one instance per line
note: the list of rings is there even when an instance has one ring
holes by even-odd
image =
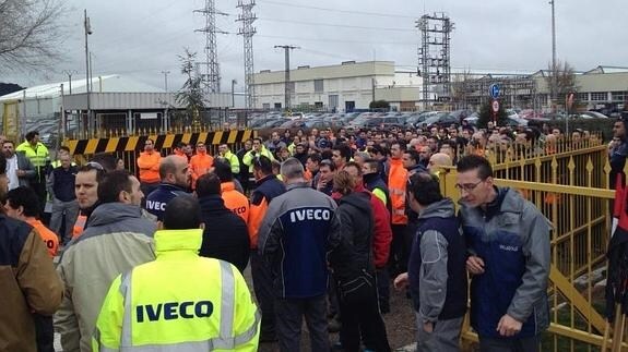
[[[63,0],[0,0],[0,72],[43,70],[59,59]]]

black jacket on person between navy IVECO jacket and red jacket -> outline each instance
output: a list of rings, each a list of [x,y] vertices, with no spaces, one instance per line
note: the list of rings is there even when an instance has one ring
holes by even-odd
[[[370,196],[354,192],[340,198],[336,214],[341,222],[341,243],[330,254],[334,278],[341,283],[375,272],[372,262],[374,215]]]

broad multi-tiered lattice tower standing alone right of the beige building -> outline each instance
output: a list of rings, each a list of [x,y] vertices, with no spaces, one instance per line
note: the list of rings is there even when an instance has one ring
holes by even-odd
[[[420,31],[418,69],[423,77],[424,108],[430,102],[451,101],[450,38],[453,22],[446,13],[423,15],[416,21]]]

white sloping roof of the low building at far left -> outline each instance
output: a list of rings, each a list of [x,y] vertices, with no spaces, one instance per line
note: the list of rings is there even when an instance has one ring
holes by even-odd
[[[87,80],[72,80],[72,94],[85,93]],[[70,82],[48,83],[26,89],[13,92],[0,97],[2,100],[26,98],[52,98],[61,96],[61,85],[63,93],[70,94]],[[142,82],[130,80],[118,74],[98,76],[92,78],[92,92],[94,93],[164,93],[158,88]]]

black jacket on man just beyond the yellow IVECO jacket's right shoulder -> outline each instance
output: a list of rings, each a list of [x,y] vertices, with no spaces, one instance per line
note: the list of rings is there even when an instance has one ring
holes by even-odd
[[[229,262],[240,272],[245,271],[250,254],[245,220],[227,209],[220,195],[201,197],[199,203],[202,221],[205,223],[199,255]]]

